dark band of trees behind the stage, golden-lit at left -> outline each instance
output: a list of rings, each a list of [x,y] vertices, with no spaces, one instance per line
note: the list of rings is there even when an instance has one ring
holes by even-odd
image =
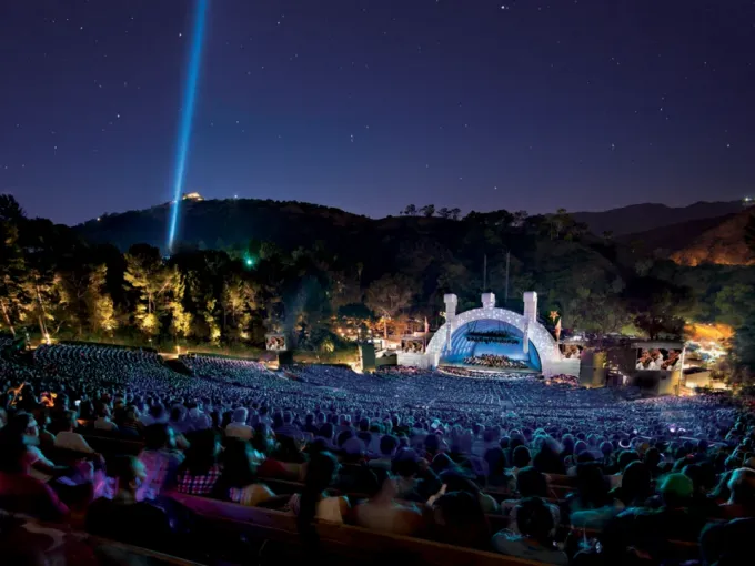
[[[416,208],[407,210],[412,216]],[[322,225],[308,214],[281,232]],[[286,332],[295,347],[330,351],[345,344],[344,321],[396,334],[425,319],[442,324],[444,293],[459,295],[460,312],[479,306],[483,291],[521,312],[522,293],[537,291],[543,322],[557,311],[567,332],[657,338],[681,335],[691,321],[725,322],[737,330],[732,363],[755,368],[753,267],[683,267],[593,235],[563,209],[463,218],[452,209],[454,219],[333,225],[308,245],[249,240],[217,250],[179,245],[168,255],[147,244],[124,252],[91,244],[0,195],[0,330],[249,346]]]

